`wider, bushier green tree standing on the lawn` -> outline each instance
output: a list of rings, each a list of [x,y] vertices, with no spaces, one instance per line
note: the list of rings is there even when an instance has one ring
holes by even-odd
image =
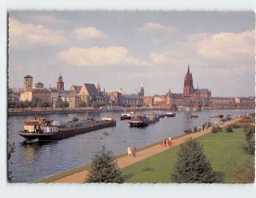
[[[177,152],[177,162],[171,179],[172,182],[176,183],[217,182],[211,163],[207,161],[201,144],[192,139],[181,144],[181,149]]]

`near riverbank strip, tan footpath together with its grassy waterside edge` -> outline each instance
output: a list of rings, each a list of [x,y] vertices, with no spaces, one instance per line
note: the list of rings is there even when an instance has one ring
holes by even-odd
[[[224,125],[221,127],[225,127],[231,123],[238,122],[241,118],[236,118],[234,120],[231,120],[229,122],[224,122]],[[187,139],[196,139],[198,137],[201,137],[207,133],[211,133],[212,127],[209,127],[208,129],[198,132],[198,133],[189,133],[186,135],[183,135],[181,137],[177,137],[175,139],[172,139],[172,147],[162,146],[159,143],[151,144],[147,147],[143,147],[140,150],[137,150],[137,156],[127,156],[127,154],[122,154],[120,156],[117,156],[117,163],[120,168],[129,167],[134,163],[137,163],[138,161],[143,161],[144,159],[155,156],[165,150],[169,150],[172,148],[175,148],[177,145],[182,144],[183,142],[187,141]],[[72,170],[69,170],[67,172],[58,173],[46,178],[38,179],[34,181],[33,183],[83,183],[84,178],[88,174],[90,169],[90,165],[84,166],[84,167],[78,167]]]

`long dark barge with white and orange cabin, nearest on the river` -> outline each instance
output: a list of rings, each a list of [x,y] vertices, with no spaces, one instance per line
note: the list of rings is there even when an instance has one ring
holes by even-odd
[[[91,118],[85,120],[73,119],[63,123],[39,118],[24,122],[24,130],[20,131],[19,135],[25,138],[27,143],[33,143],[37,141],[66,139],[81,133],[115,126],[116,121],[113,118],[97,121]]]

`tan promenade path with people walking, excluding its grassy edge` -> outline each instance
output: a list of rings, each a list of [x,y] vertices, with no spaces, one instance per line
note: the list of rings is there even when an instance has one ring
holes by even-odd
[[[233,119],[231,121],[228,122],[224,122],[223,125],[221,125],[220,127],[225,127],[227,125],[230,125],[234,122],[239,121],[241,118],[236,118]],[[160,152],[163,152],[165,150],[169,150],[172,149],[173,147],[177,146],[178,144],[182,144],[185,141],[187,141],[188,139],[196,139],[198,137],[201,137],[202,135],[205,135],[207,133],[211,133],[212,131],[212,127],[209,127],[208,129],[205,129],[204,131],[201,132],[197,132],[197,133],[189,133],[187,135],[184,135],[183,137],[177,138],[177,139],[172,139],[172,146],[168,147],[168,146],[163,146],[160,144],[154,145],[148,149],[145,150],[141,150],[137,152],[136,157],[134,156],[123,156],[120,157],[119,159],[117,159],[117,163],[119,165],[120,168],[123,167],[129,167],[132,164],[138,162],[138,161],[142,161],[150,156],[154,156],[156,154],[159,154]],[[73,173],[67,177],[64,178],[60,178],[57,179],[55,181],[53,181],[52,183],[84,183],[84,178],[86,177],[86,175],[89,173],[89,170],[84,170],[78,173]]]

